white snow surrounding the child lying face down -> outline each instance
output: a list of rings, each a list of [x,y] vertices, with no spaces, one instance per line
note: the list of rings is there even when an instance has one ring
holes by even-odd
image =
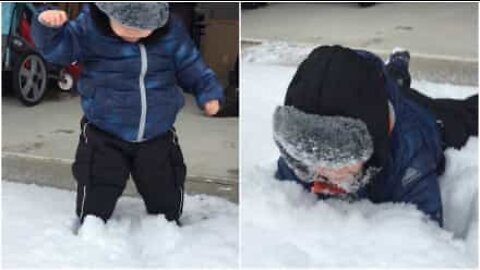
[[[271,118],[296,70],[284,64],[305,54],[303,48],[275,54],[277,49],[248,50],[242,58],[242,265],[476,267],[477,138],[461,151],[446,153],[446,173],[440,179],[445,230],[411,205],[318,201],[295,183],[274,180],[278,151]],[[425,81],[413,86],[435,97],[478,92]]]

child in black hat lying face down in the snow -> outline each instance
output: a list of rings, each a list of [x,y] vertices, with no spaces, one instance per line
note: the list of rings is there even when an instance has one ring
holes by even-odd
[[[321,198],[415,204],[442,225],[443,150],[478,135],[478,95],[431,99],[410,88],[407,51],[318,47],[274,114],[276,177]]]

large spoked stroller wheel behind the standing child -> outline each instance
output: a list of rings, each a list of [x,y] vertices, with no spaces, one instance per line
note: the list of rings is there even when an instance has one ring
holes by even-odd
[[[43,58],[35,52],[21,55],[13,67],[13,90],[17,98],[27,106],[38,104],[47,89],[47,67]]]

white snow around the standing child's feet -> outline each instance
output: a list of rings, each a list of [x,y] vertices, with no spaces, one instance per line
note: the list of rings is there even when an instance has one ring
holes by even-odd
[[[107,225],[87,217],[74,234],[73,192],[2,181],[2,257],[9,268],[236,267],[238,207],[186,196],[183,227],[122,197]]]

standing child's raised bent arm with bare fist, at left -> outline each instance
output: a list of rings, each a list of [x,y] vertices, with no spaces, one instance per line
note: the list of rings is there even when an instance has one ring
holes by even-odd
[[[81,60],[84,16],[81,13],[75,21],[68,21],[62,10],[44,10],[35,14],[32,38],[48,62],[68,65]]]

